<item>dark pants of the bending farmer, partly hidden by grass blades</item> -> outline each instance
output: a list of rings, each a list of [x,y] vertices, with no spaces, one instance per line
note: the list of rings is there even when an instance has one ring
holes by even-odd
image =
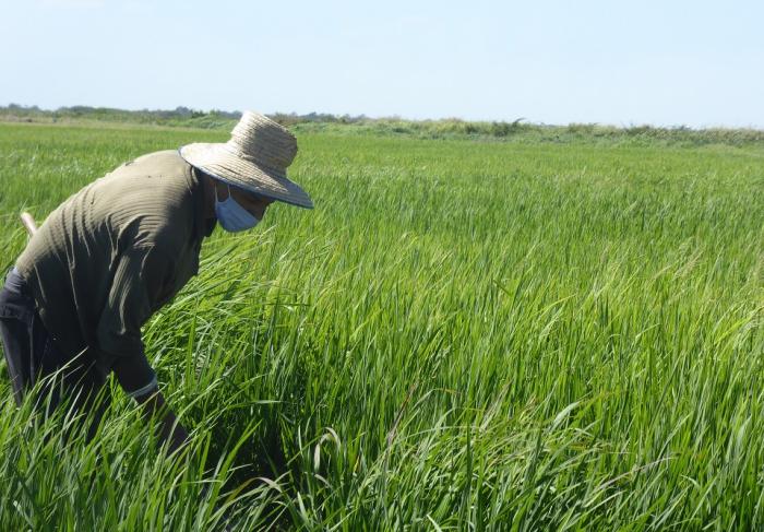
[[[71,357],[58,348],[15,269],[0,291],[0,336],[16,404],[39,383],[34,388],[36,410],[49,415],[62,402],[70,402],[76,410],[93,412],[92,435],[108,406],[108,394],[98,394],[107,391],[102,390],[106,379],[85,354]]]

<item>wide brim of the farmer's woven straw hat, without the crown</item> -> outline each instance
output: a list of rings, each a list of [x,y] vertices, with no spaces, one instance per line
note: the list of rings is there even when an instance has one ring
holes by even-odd
[[[279,173],[234,153],[227,144],[195,142],[178,149],[190,165],[212,177],[255,194],[303,209],[313,209],[310,196],[295,181]]]

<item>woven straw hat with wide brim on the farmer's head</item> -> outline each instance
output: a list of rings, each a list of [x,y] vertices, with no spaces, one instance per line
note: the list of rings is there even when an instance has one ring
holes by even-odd
[[[297,139],[270,118],[244,111],[226,143],[187,144],[180,156],[229,185],[274,200],[312,209],[308,193],[286,177],[297,154]]]

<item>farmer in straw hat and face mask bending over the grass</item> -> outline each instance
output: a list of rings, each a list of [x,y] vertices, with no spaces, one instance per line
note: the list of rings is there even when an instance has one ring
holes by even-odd
[[[313,206],[286,177],[296,153],[289,131],[247,111],[228,142],[143,155],[56,209],[0,292],[16,403],[47,377],[36,407],[50,413],[67,400],[92,411],[92,436],[108,404],[99,390],[114,371],[178,448],[188,434],[165,405],[141,326],[198,273],[202,240],[216,223],[239,232],[254,227],[273,201]]]

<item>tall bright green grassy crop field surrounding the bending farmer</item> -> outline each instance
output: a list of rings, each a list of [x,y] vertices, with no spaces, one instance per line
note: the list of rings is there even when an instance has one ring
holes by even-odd
[[[0,268],[22,209],[227,137],[0,123]],[[216,230],[145,328],[193,442],[114,383],[64,441],[3,378],[0,529],[762,530],[764,143],[645,139],[298,128],[315,211]]]

